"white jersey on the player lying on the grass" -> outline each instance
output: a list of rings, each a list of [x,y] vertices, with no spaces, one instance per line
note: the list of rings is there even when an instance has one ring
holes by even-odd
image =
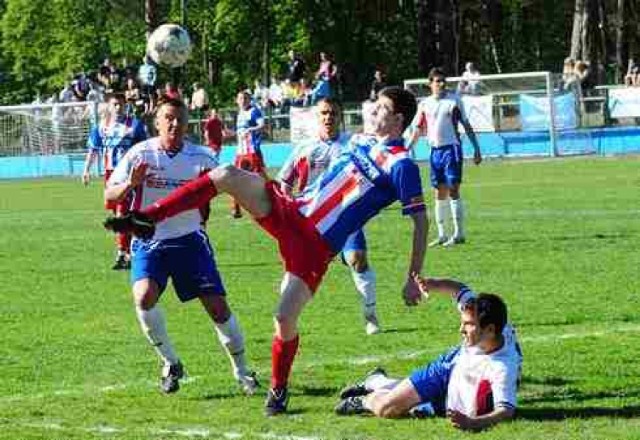
[[[463,289],[458,304],[474,297]],[[503,346],[486,354],[477,347],[461,346],[451,371],[447,389],[447,409],[475,417],[487,411],[486,399],[492,396],[494,408],[515,408],[516,392],[522,365],[522,353],[514,328],[507,324],[503,331]]]

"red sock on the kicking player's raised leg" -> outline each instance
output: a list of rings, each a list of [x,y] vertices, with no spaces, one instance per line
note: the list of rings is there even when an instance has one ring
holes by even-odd
[[[173,217],[183,211],[196,209],[218,194],[209,175],[205,174],[172,191],[168,196],[147,206],[141,212],[156,222]]]

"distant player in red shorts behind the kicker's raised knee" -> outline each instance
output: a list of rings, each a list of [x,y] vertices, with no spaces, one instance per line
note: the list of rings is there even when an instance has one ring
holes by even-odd
[[[264,174],[262,160],[262,130],[264,130],[264,116],[258,107],[251,104],[251,96],[247,91],[241,91],[236,96],[238,117],[236,118],[236,147],[235,166],[258,174]],[[242,217],[240,205],[234,199],[232,206],[233,218]]]

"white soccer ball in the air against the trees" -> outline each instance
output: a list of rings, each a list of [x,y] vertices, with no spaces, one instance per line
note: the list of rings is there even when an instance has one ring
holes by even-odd
[[[177,24],[158,26],[147,41],[147,54],[153,61],[169,67],[180,67],[191,53],[191,38]]]

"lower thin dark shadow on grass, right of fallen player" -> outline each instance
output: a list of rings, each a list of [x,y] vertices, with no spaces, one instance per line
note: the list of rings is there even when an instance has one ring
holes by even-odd
[[[631,419],[640,417],[640,406],[622,406],[618,408],[607,408],[600,406],[584,408],[519,408],[516,419],[524,420],[565,420],[565,419],[589,419],[594,417],[617,417]]]

